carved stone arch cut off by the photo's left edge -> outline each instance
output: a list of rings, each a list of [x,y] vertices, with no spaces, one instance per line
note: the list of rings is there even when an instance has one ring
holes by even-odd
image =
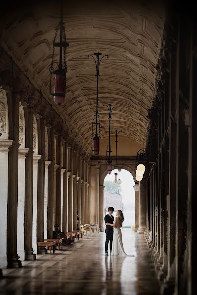
[[[0,87],[0,139],[9,139],[9,116],[6,91]]]

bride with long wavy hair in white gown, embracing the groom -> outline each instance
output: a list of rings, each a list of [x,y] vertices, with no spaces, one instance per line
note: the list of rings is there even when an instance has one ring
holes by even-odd
[[[114,223],[106,223],[106,225],[111,225],[114,228],[111,256],[127,256],[123,248],[122,232],[120,229],[123,221],[123,212],[121,210],[118,210],[116,213]]]

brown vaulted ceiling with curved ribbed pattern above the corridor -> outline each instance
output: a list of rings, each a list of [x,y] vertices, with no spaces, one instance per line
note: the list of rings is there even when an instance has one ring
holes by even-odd
[[[105,154],[108,137],[108,111],[103,104],[111,103],[118,105],[113,110],[111,129],[123,131],[119,154],[135,155],[146,140],[147,111],[152,105],[164,10],[160,6],[132,5],[125,1],[96,3],[64,3],[69,43],[66,99],[64,105],[54,105],[54,108],[90,152],[96,70],[93,59],[87,56],[97,51],[109,55],[101,63],[99,77],[101,154]],[[45,2],[10,11],[4,20],[2,38],[4,49],[51,101],[49,66],[59,7],[58,2]],[[58,61],[57,55],[56,59]]]

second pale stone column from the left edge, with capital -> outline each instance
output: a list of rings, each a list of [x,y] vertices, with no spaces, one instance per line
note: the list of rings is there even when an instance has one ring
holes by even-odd
[[[17,218],[17,252],[21,260],[25,259],[24,249],[24,214],[25,214],[25,159],[28,148],[19,149],[18,159],[18,218]]]

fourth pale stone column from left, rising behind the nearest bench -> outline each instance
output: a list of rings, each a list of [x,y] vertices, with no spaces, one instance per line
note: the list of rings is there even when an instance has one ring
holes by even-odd
[[[51,161],[45,161],[44,163],[44,238],[47,238],[47,209],[48,209],[48,168],[51,165]]]

